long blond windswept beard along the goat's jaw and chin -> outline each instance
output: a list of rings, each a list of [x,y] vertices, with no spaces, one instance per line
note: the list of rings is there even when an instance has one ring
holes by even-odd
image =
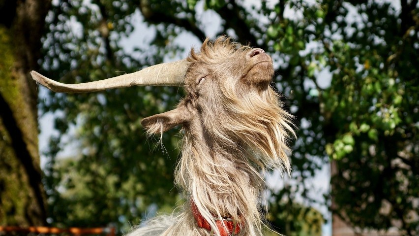
[[[290,173],[287,144],[290,136],[296,135],[291,127],[293,116],[282,109],[278,95],[270,87],[249,89],[243,96],[226,94],[222,111],[219,107],[210,109],[219,115],[203,114],[214,142],[243,152],[261,170],[279,168]]]

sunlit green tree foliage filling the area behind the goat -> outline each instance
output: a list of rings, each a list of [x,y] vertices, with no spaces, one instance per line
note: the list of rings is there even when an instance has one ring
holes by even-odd
[[[203,40],[202,12],[215,13],[221,25],[208,36],[231,34],[272,56],[272,85],[288,98],[287,108],[299,124],[291,159],[293,178],[300,184],[271,194],[272,223],[299,217],[300,206],[291,200],[329,201],[329,196],[310,196],[312,187],[304,180],[331,160],[334,213],[353,226],[394,226],[415,235],[417,5],[417,0],[279,0],[254,6],[240,0],[59,0],[47,16],[41,64],[45,74],[65,83],[132,72],[168,55],[179,56],[184,49],[174,40],[181,33]],[[138,43],[134,52],[127,52],[121,38],[135,29],[135,14],[141,14],[153,34],[149,45]],[[40,101],[44,112],[62,112],[55,122],[60,134],[78,124],[82,148],[76,159],[58,165],[60,135],[51,142],[45,169],[51,220],[126,226],[153,211],[150,206],[175,204],[179,138],[176,132],[163,135],[168,155],[162,155],[154,151],[156,142],[147,141],[139,121],[172,108],[181,95],[179,88],[147,87],[49,94]]]

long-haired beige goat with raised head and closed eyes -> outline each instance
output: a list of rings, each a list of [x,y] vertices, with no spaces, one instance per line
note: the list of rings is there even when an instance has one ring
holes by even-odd
[[[258,236],[263,234],[260,195],[266,169],[291,171],[287,141],[292,116],[270,87],[272,60],[260,48],[219,37],[200,53],[132,74],[67,85],[32,71],[56,92],[93,92],[132,85],[184,85],[176,109],[142,120],[148,134],[184,130],[175,182],[186,203],[172,216],[152,219],[129,236]]]

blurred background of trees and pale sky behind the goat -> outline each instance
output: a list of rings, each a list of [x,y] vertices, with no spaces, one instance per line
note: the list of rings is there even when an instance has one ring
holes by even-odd
[[[182,203],[179,130],[162,150],[142,118],[181,88],[55,94],[185,58],[229,35],[274,61],[295,116],[293,174],[262,204],[286,236],[419,234],[418,0],[0,0],[0,226],[117,234]],[[2,233],[1,234],[12,234]],[[267,233],[272,234],[272,233]],[[272,234],[273,235],[273,234]]]

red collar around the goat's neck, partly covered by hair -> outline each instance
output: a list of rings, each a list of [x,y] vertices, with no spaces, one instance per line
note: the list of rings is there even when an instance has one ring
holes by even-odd
[[[210,224],[201,215],[201,213],[198,210],[198,207],[193,201],[191,201],[191,210],[192,210],[193,217],[195,218],[198,226],[200,228],[204,228],[210,231],[211,233],[213,233],[214,231],[211,229]],[[215,225],[217,226],[218,231],[220,232],[221,236],[235,236],[235,235],[238,235],[240,232],[240,225],[237,223],[234,223],[233,220],[230,218],[223,218],[221,220],[215,220]]]

